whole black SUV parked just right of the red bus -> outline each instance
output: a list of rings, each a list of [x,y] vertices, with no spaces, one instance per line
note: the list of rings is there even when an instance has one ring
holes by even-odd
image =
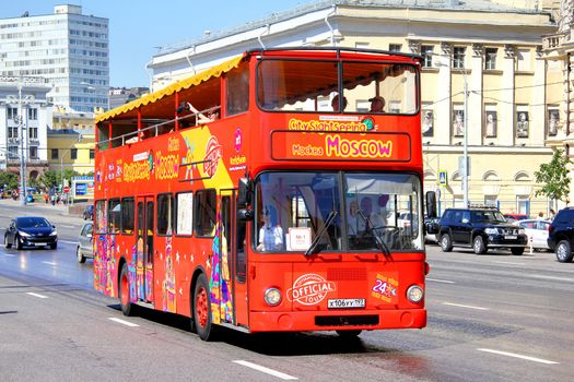
[[[480,254],[489,248],[504,247],[520,255],[528,243],[524,228],[509,224],[496,208],[446,208],[440,225],[438,243],[443,252],[465,247]]]

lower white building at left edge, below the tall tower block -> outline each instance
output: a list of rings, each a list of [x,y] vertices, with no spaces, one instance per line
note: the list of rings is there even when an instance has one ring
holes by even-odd
[[[52,111],[47,100],[51,86],[43,77],[0,76],[0,170],[19,174],[21,158],[26,178],[48,167],[47,130]]]

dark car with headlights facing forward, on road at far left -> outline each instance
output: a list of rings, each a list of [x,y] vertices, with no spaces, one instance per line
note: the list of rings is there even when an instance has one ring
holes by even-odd
[[[5,248],[58,247],[58,232],[45,217],[21,216],[13,218],[4,232]]]

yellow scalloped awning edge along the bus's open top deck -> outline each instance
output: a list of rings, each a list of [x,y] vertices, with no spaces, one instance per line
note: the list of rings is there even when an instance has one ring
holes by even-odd
[[[219,65],[215,65],[211,69],[204,70],[201,73],[198,73],[196,75],[192,75],[188,79],[178,81],[176,83],[171,84],[169,86],[166,86],[155,93],[148,94],[141,98],[134,99],[131,103],[128,103],[126,105],[121,105],[119,107],[116,107],[115,109],[108,110],[99,116],[96,117],[96,123],[99,123],[102,121],[108,120],[110,118],[114,118],[116,116],[119,116],[124,112],[131,111],[133,109],[137,109],[143,105],[148,105],[151,103],[154,103],[163,97],[169,96],[176,92],[180,92],[183,89],[189,88],[191,86],[196,86],[200,84],[201,82],[208,81],[211,77],[219,77],[222,73],[226,73],[231,71],[234,68],[237,68],[239,62],[244,56],[237,56],[229,61],[222,62]]]

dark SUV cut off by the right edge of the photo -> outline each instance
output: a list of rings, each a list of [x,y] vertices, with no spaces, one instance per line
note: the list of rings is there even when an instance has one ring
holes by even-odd
[[[548,228],[548,247],[561,263],[570,263],[574,254],[574,207],[560,210]]]

